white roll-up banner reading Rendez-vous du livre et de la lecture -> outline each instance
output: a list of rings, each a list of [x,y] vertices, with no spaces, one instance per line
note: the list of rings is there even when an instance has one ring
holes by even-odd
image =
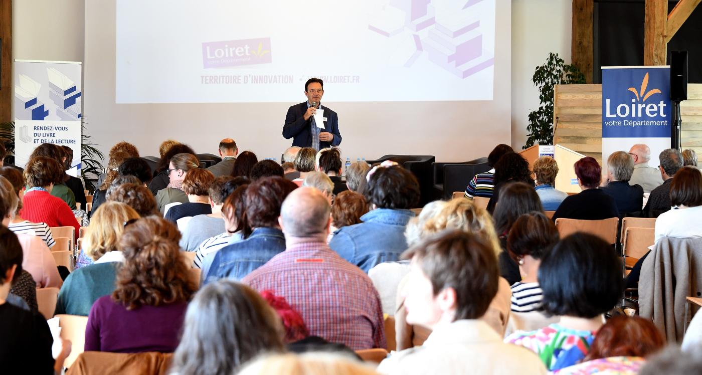
[[[15,60],[15,165],[24,167],[37,146],[73,150],[71,176],[81,169],[81,62]]]

